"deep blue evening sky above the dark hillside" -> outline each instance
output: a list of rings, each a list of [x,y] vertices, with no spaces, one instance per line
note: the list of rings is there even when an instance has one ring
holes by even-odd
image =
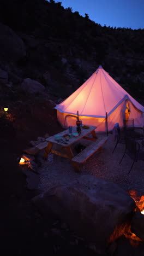
[[[56,0],[101,26],[144,28],[144,0]]]

